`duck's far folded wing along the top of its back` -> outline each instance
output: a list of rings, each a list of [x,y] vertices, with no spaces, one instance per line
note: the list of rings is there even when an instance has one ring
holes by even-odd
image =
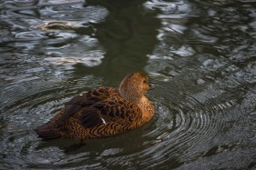
[[[100,87],[94,88],[87,93],[74,96],[69,100],[68,104],[65,105],[63,114],[59,117],[59,122],[66,121],[71,115],[77,113],[80,108],[89,107],[112,95],[118,95],[118,91],[112,87]]]

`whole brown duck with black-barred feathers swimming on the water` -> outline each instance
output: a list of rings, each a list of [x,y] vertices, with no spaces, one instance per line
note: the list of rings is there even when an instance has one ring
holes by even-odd
[[[46,125],[35,130],[43,138],[119,135],[151,120],[154,106],[145,96],[151,88],[146,75],[126,75],[119,89],[99,87],[74,96]]]

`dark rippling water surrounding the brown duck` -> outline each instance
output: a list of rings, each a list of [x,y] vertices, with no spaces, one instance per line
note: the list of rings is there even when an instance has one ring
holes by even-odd
[[[1,1],[0,14],[0,169],[256,168],[253,1]],[[37,137],[73,95],[135,71],[155,83],[150,124],[79,148]]]

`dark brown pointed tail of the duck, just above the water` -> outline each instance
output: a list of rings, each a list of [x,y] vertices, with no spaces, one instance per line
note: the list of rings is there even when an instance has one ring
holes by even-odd
[[[37,132],[37,135],[39,135],[44,139],[54,139],[59,137],[59,134],[57,133],[57,129],[50,124],[38,126],[35,129],[35,131]]]

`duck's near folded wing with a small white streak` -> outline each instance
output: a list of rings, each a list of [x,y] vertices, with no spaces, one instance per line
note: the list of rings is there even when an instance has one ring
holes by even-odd
[[[141,120],[142,116],[139,106],[120,97],[112,97],[84,109],[80,121],[84,127],[88,128],[110,123],[132,125]]]

